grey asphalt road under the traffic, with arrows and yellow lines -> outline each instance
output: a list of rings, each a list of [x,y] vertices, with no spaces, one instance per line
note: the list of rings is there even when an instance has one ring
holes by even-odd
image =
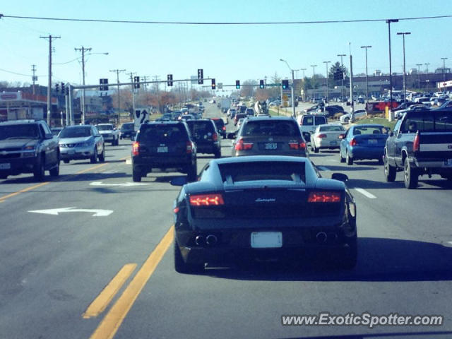
[[[220,112],[208,105],[206,115]],[[230,141],[222,145],[223,156],[230,155]],[[179,188],[169,184],[181,174],[132,183],[130,150],[130,141],[107,145],[104,164],[61,164],[59,179],[42,184],[29,175],[0,181],[0,338],[452,334],[451,182],[434,176],[408,191],[401,173],[384,182],[376,162],[347,166],[336,151],[311,154],[323,177],[350,178],[358,213],[355,270],[265,265],[183,275],[174,271],[171,243]],[[201,155],[198,169],[211,158]],[[281,325],[282,315],[321,311],[434,314],[444,324]]]

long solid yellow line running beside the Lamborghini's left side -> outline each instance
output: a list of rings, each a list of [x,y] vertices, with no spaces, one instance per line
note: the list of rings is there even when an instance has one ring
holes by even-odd
[[[129,286],[127,286],[126,290],[122,293],[121,297],[114,303],[102,322],[97,326],[90,339],[111,339],[114,337],[114,334],[117,333],[119,326],[121,326],[122,321],[126,318],[126,315],[129,313],[136,298],[141,293],[141,290],[143,290],[143,287],[148,282],[150,276],[153,275],[155,268],[157,268],[157,265],[165,255],[173,238],[174,226],[169,228],[160,243],[157,244],[155,249],[148,256]]]

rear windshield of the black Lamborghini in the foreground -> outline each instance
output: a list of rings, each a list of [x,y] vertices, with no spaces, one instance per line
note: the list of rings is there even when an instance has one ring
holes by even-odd
[[[223,182],[249,182],[256,180],[286,180],[305,182],[304,162],[234,162],[220,164]]]

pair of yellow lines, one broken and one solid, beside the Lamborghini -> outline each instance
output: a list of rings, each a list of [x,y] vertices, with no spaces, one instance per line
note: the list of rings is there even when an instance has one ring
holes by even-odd
[[[90,339],[111,339],[114,337],[136,298],[141,293],[141,290],[143,290],[143,287],[148,282],[150,276],[153,275],[155,268],[157,268],[157,265],[171,245],[173,238],[174,226],[169,228],[160,243],[157,244],[155,249],[150,253],[145,263],[143,263],[143,266],[141,266],[140,270],[138,270],[138,273],[136,273],[135,277],[126,287],[121,297],[117,299],[117,302],[114,303],[102,322],[97,326]],[[85,313],[83,313],[83,318],[90,318],[90,316],[97,316],[97,314],[100,314],[100,312],[107,307],[108,303],[112,300],[127,278],[129,278],[129,275],[133,272],[135,267],[136,263],[129,263],[121,268],[119,273],[117,273],[105,289],[100,292],[100,295],[94,302],[90,304]]]

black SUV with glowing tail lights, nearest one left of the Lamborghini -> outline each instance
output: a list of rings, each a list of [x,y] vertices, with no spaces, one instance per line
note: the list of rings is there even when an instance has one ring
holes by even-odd
[[[196,180],[196,145],[184,121],[141,124],[132,143],[132,178],[141,182],[153,169],[182,172]]]

